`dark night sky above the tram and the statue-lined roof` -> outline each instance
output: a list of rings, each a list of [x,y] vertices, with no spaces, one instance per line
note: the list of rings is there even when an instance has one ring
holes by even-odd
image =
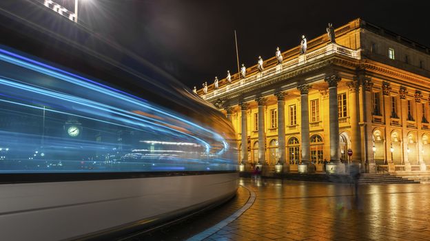
[[[234,30],[246,66],[273,56],[276,46],[298,45],[301,34],[313,39],[329,22],[337,28],[358,17],[430,46],[427,1],[80,1],[83,24],[189,87],[237,71]]]

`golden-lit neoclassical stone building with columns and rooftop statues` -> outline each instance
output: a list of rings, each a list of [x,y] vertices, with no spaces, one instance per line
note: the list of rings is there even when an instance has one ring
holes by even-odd
[[[237,133],[239,163],[297,170],[360,162],[367,172],[430,166],[429,48],[356,19],[198,90]],[[279,55],[279,54],[278,54]],[[263,58],[264,59],[264,58]],[[366,167],[366,168],[364,168]]]

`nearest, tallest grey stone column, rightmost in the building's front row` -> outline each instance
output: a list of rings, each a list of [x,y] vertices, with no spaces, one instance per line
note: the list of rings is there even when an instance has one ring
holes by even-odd
[[[329,114],[330,114],[330,161],[339,162],[339,118],[338,118],[338,82],[340,77],[332,75],[325,78],[329,83]]]

